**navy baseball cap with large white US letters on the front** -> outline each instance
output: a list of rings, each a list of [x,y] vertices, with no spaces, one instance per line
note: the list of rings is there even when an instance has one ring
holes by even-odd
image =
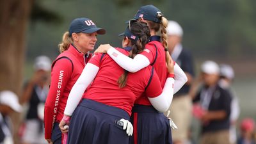
[[[104,35],[106,33],[105,29],[97,28],[95,23],[85,17],[74,19],[69,26],[69,36],[72,33],[94,33],[97,31],[99,35]]]

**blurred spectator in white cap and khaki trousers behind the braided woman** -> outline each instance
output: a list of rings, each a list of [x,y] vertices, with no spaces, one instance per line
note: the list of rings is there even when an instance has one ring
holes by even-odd
[[[168,34],[168,51],[173,61],[179,64],[180,68],[185,72],[188,81],[177,92],[172,101],[169,110],[173,121],[178,129],[172,131],[173,143],[186,143],[188,141],[189,126],[191,123],[192,102],[189,96],[189,88],[194,76],[193,58],[191,53],[182,47],[183,30],[175,21],[169,21],[167,27]]]

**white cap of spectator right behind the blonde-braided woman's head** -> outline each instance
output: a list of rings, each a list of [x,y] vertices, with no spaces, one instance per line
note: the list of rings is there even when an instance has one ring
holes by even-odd
[[[178,24],[178,22],[175,22],[173,20],[168,21],[168,27],[166,28],[168,35],[177,35],[182,37],[183,30],[181,26]]]

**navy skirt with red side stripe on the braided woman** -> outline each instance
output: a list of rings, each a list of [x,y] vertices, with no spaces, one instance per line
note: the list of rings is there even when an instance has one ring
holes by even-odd
[[[168,118],[153,106],[135,104],[131,122],[134,128],[130,144],[171,144],[172,131]]]

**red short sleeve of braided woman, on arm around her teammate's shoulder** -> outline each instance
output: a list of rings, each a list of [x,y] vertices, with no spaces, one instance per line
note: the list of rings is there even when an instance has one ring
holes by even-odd
[[[147,44],[145,46],[145,49],[142,52],[140,52],[140,54],[146,56],[151,64],[156,58],[156,47],[152,44]]]

